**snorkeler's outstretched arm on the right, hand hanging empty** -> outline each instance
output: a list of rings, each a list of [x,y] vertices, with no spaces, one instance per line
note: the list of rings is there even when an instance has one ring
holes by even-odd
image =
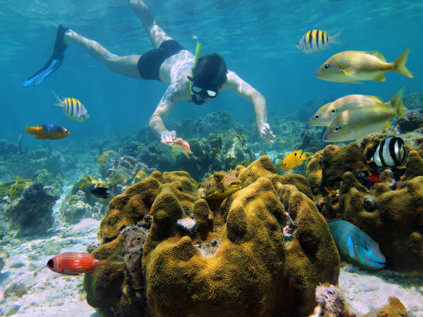
[[[237,93],[252,103],[254,113],[256,114],[256,126],[257,130],[259,130],[260,136],[263,140],[273,142],[276,136],[272,133],[272,130],[270,130],[270,126],[267,123],[267,106],[265,97],[231,70],[227,73],[227,84],[234,93]]]

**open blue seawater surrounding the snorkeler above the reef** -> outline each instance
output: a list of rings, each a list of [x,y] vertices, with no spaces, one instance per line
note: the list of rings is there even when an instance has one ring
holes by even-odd
[[[111,72],[77,46],[70,46],[53,75],[39,86],[23,88],[22,82],[50,57],[59,23],[95,39],[117,55],[142,54],[152,48],[142,24],[126,1],[0,1],[0,138],[16,142],[26,125],[54,123],[65,126],[67,142],[136,133],[148,119],[166,84],[141,81]],[[201,55],[218,52],[229,69],[259,90],[269,113],[290,114],[309,100],[330,95],[378,95],[389,99],[402,87],[421,92],[423,69],[420,40],[422,1],[147,1],[158,24],[192,51],[196,39]],[[344,30],[342,45],[306,55],[295,46],[302,35],[317,28],[335,33]],[[388,61],[411,48],[407,66],[415,78],[387,73],[385,82],[338,84],[314,77],[314,71],[341,50],[379,50]],[[90,111],[83,124],[69,120],[55,107],[54,90],[76,97]],[[254,122],[251,104],[229,90],[204,106],[181,102],[172,119],[198,117],[225,109],[235,119]],[[40,146],[40,142],[25,144]]]

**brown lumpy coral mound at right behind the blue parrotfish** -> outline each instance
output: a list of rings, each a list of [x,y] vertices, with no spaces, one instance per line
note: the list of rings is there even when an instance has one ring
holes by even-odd
[[[325,218],[352,222],[366,232],[386,255],[388,269],[421,272],[423,138],[415,142],[417,148],[406,145],[404,166],[392,169],[370,161],[382,139],[375,135],[360,146],[328,145],[309,158],[306,175],[314,200],[323,198],[319,205]],[[370,182],[373,173],[380,175]]]

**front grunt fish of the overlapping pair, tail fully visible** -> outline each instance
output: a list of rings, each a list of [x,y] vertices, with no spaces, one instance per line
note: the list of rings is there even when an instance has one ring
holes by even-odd
[[[389,120],[406,117],[402,104],[402,90],[389,102],[377,102],[368,106],[349,108],[338,113],[323,135],[323,142],[357,140],[391,125]]]

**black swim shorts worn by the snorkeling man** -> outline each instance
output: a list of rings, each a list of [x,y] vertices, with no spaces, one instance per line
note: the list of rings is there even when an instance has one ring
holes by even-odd
[[[160,44],[159,48],[149,50],[138,59],[138,71],[142,79],[160,80],[160,66],[165,59],[175,55],[185,48],[174,39],[169,39]]]

